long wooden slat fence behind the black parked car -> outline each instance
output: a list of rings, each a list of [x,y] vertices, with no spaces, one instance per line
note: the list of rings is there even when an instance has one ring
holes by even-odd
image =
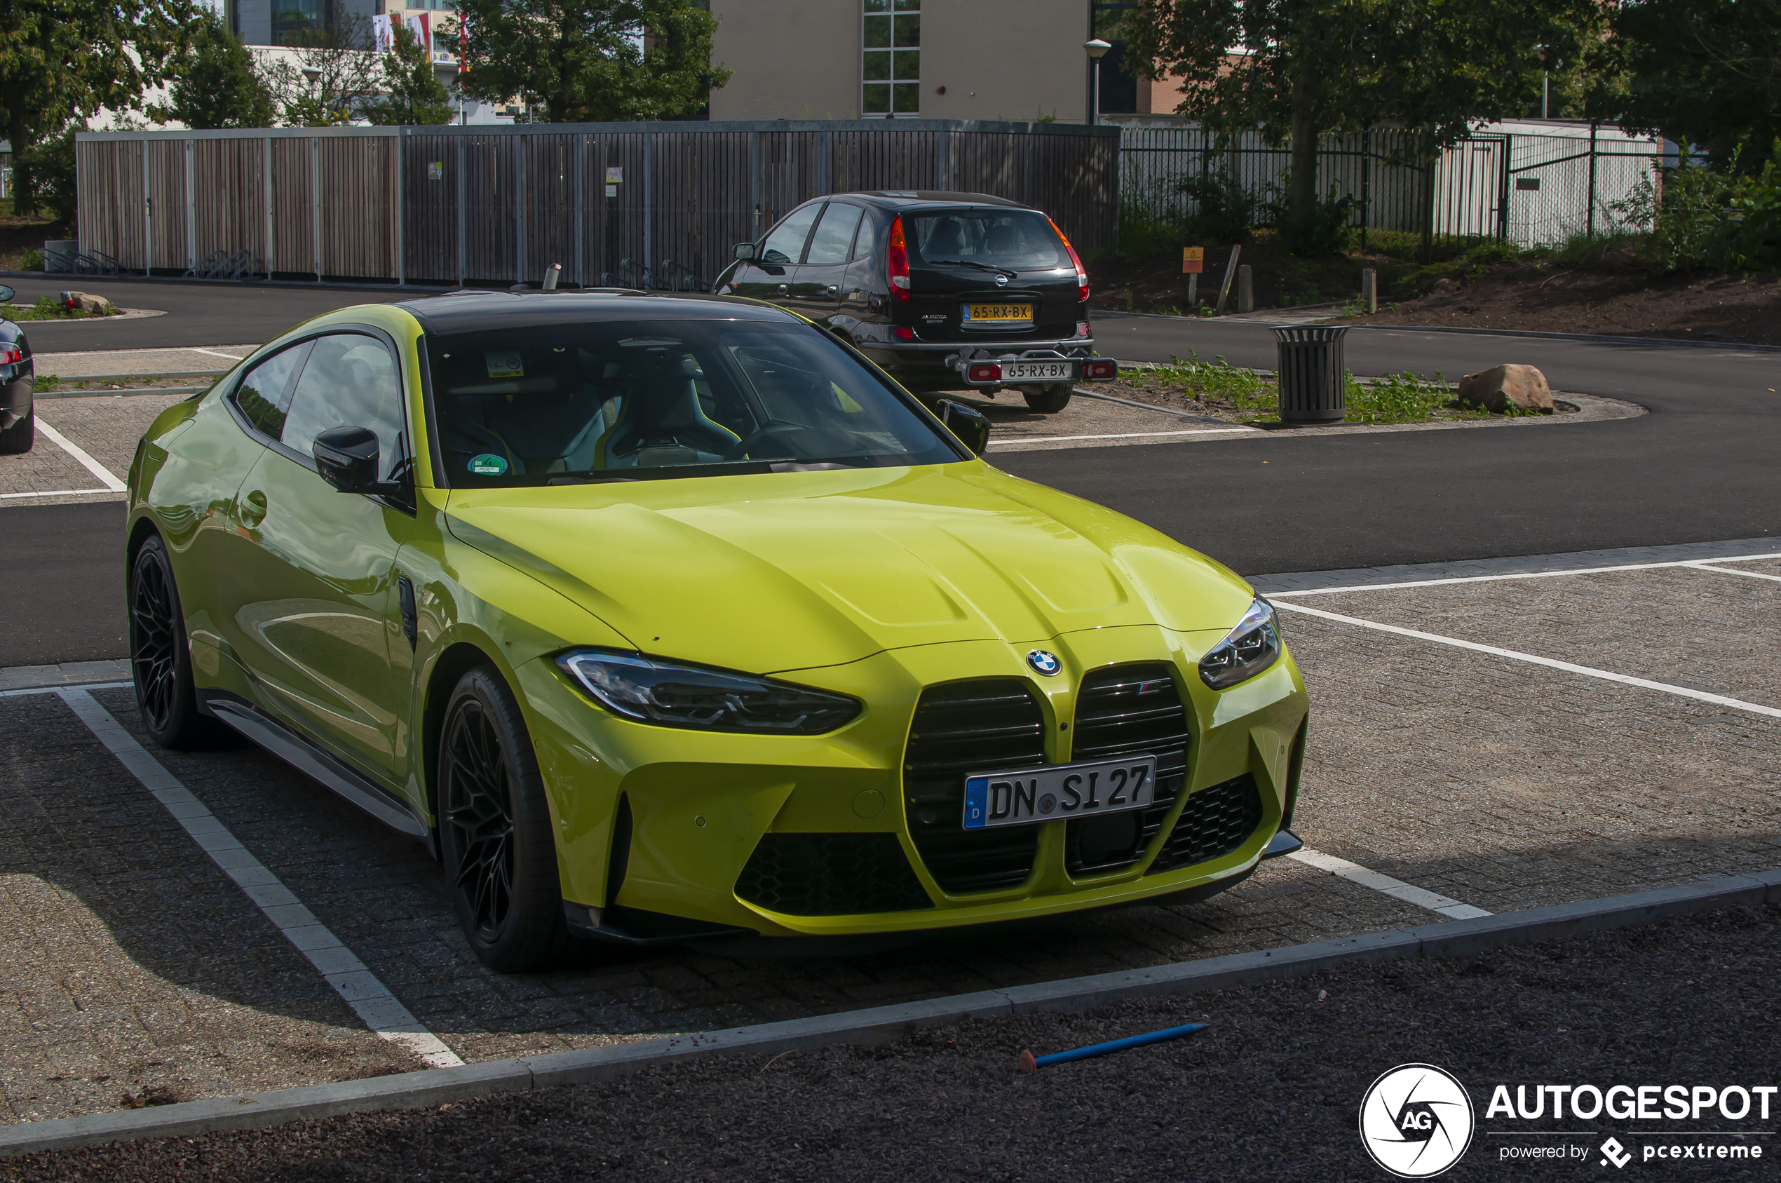
[[[570,283],[702,289],[809,198],[953,189],[1044,208],[1090,253],[1115,246],[1118,135],[937,119],[91,132],[80,244],[160,274],[248,251],[278,278],[504,285],[563,264]]]

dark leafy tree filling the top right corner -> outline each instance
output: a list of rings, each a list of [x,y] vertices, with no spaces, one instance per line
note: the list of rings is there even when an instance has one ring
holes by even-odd
[[[1621,4],[1605,48],[1626,71],[1612,114],[1630,128],[1687,139],[1719,160],[1781,139],[1781,0]]]

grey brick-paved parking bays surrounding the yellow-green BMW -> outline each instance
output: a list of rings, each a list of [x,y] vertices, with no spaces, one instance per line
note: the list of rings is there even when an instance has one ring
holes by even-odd
[[[32,741],[0,775],[0,1121],[420,1067],[354,1012],[372,987],[474,1064],[1781,866],[1781,545],[1574,567],[1265,584],[1314,704],[1307,852],[1211,902],[883,948],[586,946],[538,976],[483,969],[420,846],[272,757],[153,752],[214,816],[194,837],[73,709],[141,741],[126,688],[7,693]],[[219,830],[290,900],[249,898]],[[337,989],[290,907],[363,976]]]

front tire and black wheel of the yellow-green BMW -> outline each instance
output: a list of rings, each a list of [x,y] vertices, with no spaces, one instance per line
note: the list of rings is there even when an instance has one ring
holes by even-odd
[[[438,750],[440,853],[458,925],[500,973],[556,962],[568,941],[556,836],[533,741],[493,666],[465,673]]]

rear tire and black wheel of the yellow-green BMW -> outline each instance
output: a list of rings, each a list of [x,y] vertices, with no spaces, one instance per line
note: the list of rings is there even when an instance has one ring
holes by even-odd
[[[130,675],[142,727],[159,747],[183,752],[228,734],[198,711],[180,588],[159,536],[144,540],[130,561]]]

